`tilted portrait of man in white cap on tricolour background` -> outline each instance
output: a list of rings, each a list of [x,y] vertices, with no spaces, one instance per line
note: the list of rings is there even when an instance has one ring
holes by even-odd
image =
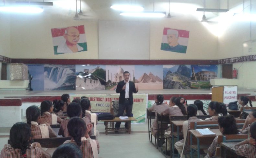
[[[189,40],[189,31],[173,28],[164,28],[161,50],[186,53]]]

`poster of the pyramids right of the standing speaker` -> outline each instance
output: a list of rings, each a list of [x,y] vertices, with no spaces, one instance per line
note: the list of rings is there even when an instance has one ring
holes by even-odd
[[[162,65],[135,65],[135,85],[139,90],[162,90],[162,69]]]

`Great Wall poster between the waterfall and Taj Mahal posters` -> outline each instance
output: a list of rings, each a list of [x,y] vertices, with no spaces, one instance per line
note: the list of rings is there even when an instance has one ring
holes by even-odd
[[[105,65],[76,65],[76,90],[105,90]]]

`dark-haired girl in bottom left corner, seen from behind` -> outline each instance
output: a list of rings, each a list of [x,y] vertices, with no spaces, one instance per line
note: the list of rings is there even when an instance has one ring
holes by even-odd
[[[17,122],[10,130],[10,145],[6,144],[0,158],[51,158],[49,153],[41,149],[39,143],[29,144],[31,130],[27,123]]]

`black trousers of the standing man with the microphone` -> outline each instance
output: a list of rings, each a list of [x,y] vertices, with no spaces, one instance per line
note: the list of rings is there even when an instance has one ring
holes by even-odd
[[[126,116],[132,117],[133,104],[130,104],[129,100],[125,100],[123,104],[119,104],[117,117],[123,116],[124,110],[126,111]],[[120,124],[121,122],[116,122],[115,128],[119,128]]]

